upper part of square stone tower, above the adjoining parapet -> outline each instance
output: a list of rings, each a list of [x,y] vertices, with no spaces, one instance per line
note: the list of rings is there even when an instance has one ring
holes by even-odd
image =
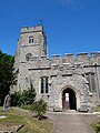
[[[20,52],[20,62],[27,62],[33,58],[40,59],[42,55],[47,55],[47,37],[43,31],[43,25],[21,28],[18,49]]]

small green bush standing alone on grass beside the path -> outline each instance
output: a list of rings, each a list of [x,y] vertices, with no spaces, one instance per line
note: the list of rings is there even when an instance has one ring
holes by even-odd
[[[41,120],[47,112],[47,103],[43,100],[37,101],[32,104],[31,110],[37,113],[38,120]]]

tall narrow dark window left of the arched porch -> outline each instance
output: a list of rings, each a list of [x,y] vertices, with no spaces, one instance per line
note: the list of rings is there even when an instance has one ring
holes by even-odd
[[[41,93],[48,93],[49,90],[48,90],[48,78],[44,76],[44,78],[41,78]]]

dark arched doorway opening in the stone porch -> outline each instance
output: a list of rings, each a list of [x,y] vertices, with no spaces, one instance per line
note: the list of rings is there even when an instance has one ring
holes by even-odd
[[[62,92],[62,109],[77,110],[76,93],[71,89],[66,89]]]

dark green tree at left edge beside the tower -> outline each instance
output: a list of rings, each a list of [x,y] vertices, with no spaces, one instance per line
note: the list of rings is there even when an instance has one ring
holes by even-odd
[[[8,55],[0,50],[0,105],[3,104],[11,84],[14,83],[13,62],[14,57]]]

